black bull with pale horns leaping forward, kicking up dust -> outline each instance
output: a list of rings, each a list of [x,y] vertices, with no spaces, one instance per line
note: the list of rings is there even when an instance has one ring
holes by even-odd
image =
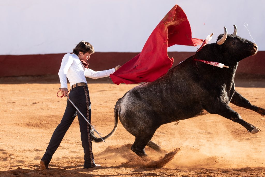
[[[225,34],[226,31],[218,36],[217,43],[205,45],[156,81],[129,90],[115,105],[114,129],[103,138],[109,137],[116,130],[119,117],[123,127],[135,136],[131,150],[138,156],[146,156],[146,145],[161,150],[160,146],[150,140],[162,124],[207,113],[219,114],[237,122],[251,133],[259,132],[260,129],[244,121],[228,105],[231,102],[263,116],[265,114],[265,109],[252,105],[235,90],[234,82],[238,62],[256,54],[257,45],[235,33],[228,34],[227,38]],[[195,61],[195,58],[223,63],[229,68],[215,67]],[[91,135],[93,141],[102,141],[94,133]]]

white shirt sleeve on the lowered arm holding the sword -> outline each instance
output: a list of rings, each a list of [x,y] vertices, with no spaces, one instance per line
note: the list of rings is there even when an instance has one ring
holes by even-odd
[[[71,54],[65,54],[61,63],[58,75],[60,77],[61,88],[67,88],[66,74],[70,66],[73,63],[73,57]]]

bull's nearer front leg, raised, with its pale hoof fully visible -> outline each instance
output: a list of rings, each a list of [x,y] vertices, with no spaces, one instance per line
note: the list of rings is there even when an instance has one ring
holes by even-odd
[[[227,119],[232,120],[233,122],[239,123],[240,125],[245,127],[248,130],[248,132],[251,132],[254,134],[260,131],[259,128],[243,120],[236,111],[234,111],[230,106],[228,106],[228,104],[224,102],[217,102],[215,100],[213,104],[213,102],[210,101],[204,107],[205,107],[205,110],[208,111],[210,114],[219,114]]]

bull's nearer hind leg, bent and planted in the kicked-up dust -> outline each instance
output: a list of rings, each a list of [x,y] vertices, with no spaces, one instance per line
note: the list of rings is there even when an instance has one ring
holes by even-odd
[[[134,144],[131,146],[131,150],[135,152],[140,157],[145,157],[147,154],[145,153],[145,146],[149,143],[151,138],[153,137],[154,134],[152,135],[143,135],[143,136],[138,136],[135,137]]]

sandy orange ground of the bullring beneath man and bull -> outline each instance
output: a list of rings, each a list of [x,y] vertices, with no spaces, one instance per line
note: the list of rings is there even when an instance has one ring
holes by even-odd
[[[60,87],[57,82],[27,82],[20,78],[2,80],[0,85],[0,176],[265,176],[265,119],[232,104],[261,132],[247,133],[240,124],[214,114],[182,120],[178,125],[162,125],[152,140],[167,152],[180,150],[164,167],[147,167],[146,161],[130,150],[134,137],[118,122],[117,131],[106,143],[92,145],[95,161],[101,167],[82,169],[83,149],[76,118],[55,152],[50,169],[42,170],[39,162],[60,123],[66,98],[56,97]],[[264,108],[264,83],[241,80],[236,82],[236,89]],[[89,83],[92,123],[103,135],[114,126],[117,99],[135,86]],[[149,147],[146,152],[155,161],[165,156]]]

